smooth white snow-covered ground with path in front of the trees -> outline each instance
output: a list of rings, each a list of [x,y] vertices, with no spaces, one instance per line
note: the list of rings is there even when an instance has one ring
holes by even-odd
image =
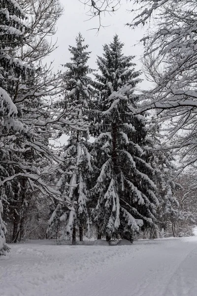
[[[0,257],[0,296],[197,296],[197,237],[11,245]]]

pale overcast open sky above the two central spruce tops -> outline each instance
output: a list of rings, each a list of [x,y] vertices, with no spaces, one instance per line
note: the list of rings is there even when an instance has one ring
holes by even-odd
[[[132,19],[132,14],[127,10],[132,8],[130,2],[122,4],[120,9],[112,16],[106,14],[102,17],[103,25],[110,25],[105,29],[100,28],[99,34],[96,30],[89,30],[98,27],[99,19],[94,18],[88,20],[86,12],[88,6],[84,6],[79,0],[61,0],[65,11],[64,15],[59,19],[57,27],[58,31],[56,37],[58,38],[59,48],[51,54],[49,61],[54,60],[55,69],[63,69],[61,64],[66,64],[69,61],[70,55],[68,52],[68,45],[75,45],[75,37],[79,32],[85,38],[86,44],[89,44],[89,50],[92,51],[89,65],[93,69],[97,69],[96,58],[97,55],[102,55],[102,45],[109,43],[115,34],[118,34],[121,41],[125,43],[124,54],[135,55],[135,62],[138,66],[136,70],[140,70],[140,56],[143,52],[142,45],[135,45],[143,36],[143,31],[138,28],[132,30],[125,26],[127,22]],[[142,88],[148,87],[148,83],[142,82]]]

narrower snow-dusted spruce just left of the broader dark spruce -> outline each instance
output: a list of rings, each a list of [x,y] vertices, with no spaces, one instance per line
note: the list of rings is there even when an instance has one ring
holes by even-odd
[[[69,46],[71,62],[65,67],[65,98],[59,104],[67,112],[72,111],[68,119],[74,120],[78,127],[65,128],[69,135],[68,144],[64,147],[61,166],[62,175],[57,188],[62,192],[65,204],[58,204],[50,220],[52,232],[61,232],[61,238],[72,234],[72,243],[76,241],[76,229],[79,230],[80,241],[83,240],[83,228],[89,232],[90,218],[87,210],[88,186],[90,182],[91,158],[89,140],[88,106],[91,96],[92,69],[87,65],[90,52],[84,45],[84,38],[76,37],[76,46]],[[61,222],[62,221],[62,222]]]

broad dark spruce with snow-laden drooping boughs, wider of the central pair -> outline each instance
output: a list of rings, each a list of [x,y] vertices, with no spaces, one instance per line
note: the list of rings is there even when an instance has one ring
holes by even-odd
[[[98,237],[120,234],[131,240],[143,224],[154,224],[158,199],[144,149],[146,119],[133,116],[137,100],[133,92],[140,73],[134,71],[133,57],[122,53],[123,45],[116,35],[103,46],[103,57],[97,61],[101,74],[95,75],[98,111],[91,128],[97,167],[92,198]]]

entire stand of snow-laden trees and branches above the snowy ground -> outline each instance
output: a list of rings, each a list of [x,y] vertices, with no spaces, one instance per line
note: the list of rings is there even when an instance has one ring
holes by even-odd
[[[196,1],[130,2],[128,42],[145,28],[141,70],[117,34],[91,69],[79,27],[58,71],[48,61],[60,1],[0,0],[0,255],[27,239],[192,235]],[[121,5],[129,3],[86,1],[84,16],[101,34]],[[151,87],[139,88],[142,78]]]

